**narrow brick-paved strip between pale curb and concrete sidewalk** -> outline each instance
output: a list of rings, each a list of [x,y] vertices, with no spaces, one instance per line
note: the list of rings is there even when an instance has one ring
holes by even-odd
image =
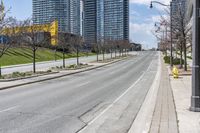
[[[161,76],[150,133],[178,133],[177,117],[168,70],[163,62]]]

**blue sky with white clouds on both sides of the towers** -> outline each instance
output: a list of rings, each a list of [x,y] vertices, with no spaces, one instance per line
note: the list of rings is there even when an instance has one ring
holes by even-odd
[[[157,47],[157,39],[152,34],[155,22],[159,22],[164,14],[164,8],[157,4],[150,9],[151,0],[130,0],[130,40],[141,43],[143,48]],[[157,0],[169,4],[170,0]],[[30,18],[32,14],[32,0],[4,0],[6,8],[10,8],[9,16],[19,20]]]

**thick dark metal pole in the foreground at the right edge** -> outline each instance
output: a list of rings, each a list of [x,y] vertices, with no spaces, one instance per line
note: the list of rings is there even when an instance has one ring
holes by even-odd
[[[193,67],[190,110],[200,112],[200,0],[194,0],[193,4]]]

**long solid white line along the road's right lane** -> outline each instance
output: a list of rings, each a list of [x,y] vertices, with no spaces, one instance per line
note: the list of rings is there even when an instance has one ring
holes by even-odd
[[[115,103],[117,103],[124,95],[126,95],[146,74],[146,72],[148,72],[148,70],[150,69],[151,65],[153,63],[153,60],[151,61],[150,65],[148,66],[147,70],[144,71],[142,73],[142,75],[138,78],[137,81],[135,81],[124,93],[122,93],[112,104],[110,104],[107,108],[105,108],[98,116],[96,116],[92,121],[90,121],[82,130],[80,130],[78,133],[82,133],[83,131],[85,131],[88,126],[90,126],[91,124],[93,124],[97,119],[99,119],[102,115],[104,115],[104,113],[106,113],[110,108],[113,107],[113,105]]]

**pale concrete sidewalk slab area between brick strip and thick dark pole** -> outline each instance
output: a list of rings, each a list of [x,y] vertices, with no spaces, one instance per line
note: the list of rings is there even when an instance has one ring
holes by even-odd
[[[170,77],[180,133],[200,133],[200,113],[189,111],[191,80],[191,76],[181,76],[179,79]]]

